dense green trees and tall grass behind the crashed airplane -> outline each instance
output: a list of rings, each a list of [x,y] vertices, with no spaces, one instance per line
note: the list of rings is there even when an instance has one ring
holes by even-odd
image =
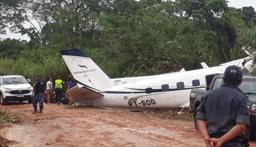
[[[15,15],[1,13],[7,8]],[[218,65],[245,57],[242,47],[256,48],[254,8],[226,0],[0,0],[0,18],[1,33],[8,22],[30,37],[0,41],[0,72],[30,78],[66,77],[59,50],[73,47],[110,78]]]

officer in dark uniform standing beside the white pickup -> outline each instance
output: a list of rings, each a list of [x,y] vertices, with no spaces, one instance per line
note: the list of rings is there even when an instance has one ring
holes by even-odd
[[[41,76],[38,75],[36,76],[36,82],[34,84],[34,97],[33,97],[33,107],[34,107],[34,112],[33,114],[35,113],[38,113],[38,110],[37,110],[37,103],[39,102],[39,107],[40,107],[40,112],[39,113],[42,113],[43,112],[43,108],[44,108],[44,91],[46,89],[46,84],[45,82],[42,80]]]

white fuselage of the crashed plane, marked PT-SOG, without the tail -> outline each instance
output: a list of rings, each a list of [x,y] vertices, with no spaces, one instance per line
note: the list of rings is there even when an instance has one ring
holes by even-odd
[[[91,106],[128,108],[128,109],[158,109],[175,108],[189,105],[190,91],[193,88],[205,89],[205,76],[224,73],[226,66],[184,71],[165,74],[148,80],[140,80],[133,84],[123,84],[97,91],[104,96],[90,99],[85,103]],[[119,79],[121,82],[126,79]],[[199,80],[199,86],[193,86],[192,81]],[[183,82],[184,88],[177,89],[177,83]],[[161,86],[169,85],[168,91],[162,91]],[[80,85],[82,87],[82,85]],[[145,93],[146,88],[152,88],[152,93]],[[81,103],[81,104],[85,104]]]

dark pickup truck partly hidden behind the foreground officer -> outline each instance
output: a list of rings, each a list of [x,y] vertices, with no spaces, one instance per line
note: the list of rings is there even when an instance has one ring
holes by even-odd
[[[198,112],[198,106],[203,97],[211,90],[220,87],[223,84],[223,74],[213,74],[205,77],[205,89],[192,89],[190,92],[190,109],[193,112],[195,128],[197,123],[195,115]],[[244,75],[243,82],[239,88],[249,97],[250,103],[250,133],[256,133],[256,76]],[[197,128],[198,129],[198,128]]]

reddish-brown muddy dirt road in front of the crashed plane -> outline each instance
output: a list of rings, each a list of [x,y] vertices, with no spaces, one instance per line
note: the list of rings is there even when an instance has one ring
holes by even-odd
[[[204,147],[187,112],[182,116],[169,110],[144,113],[44,106],[43,114],[32,114],[30,104],[0,106],[23,120],[2,128],[0,135],[19,142],[12,147]],[[256,147],[256,141],[250,146]]]

